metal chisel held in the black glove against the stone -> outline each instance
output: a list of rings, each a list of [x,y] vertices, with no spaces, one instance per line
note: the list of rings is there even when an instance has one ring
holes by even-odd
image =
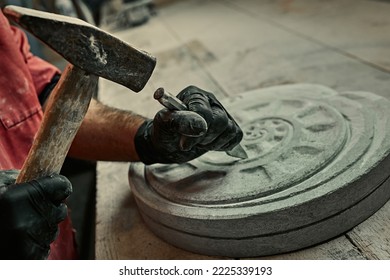
[[[188,110],[187,106],[177,97],[165,91],[163,88],[158,88],[154,92],[154,99],[160,102],[168,110]],[[240,144],[235,146],[232,150],[226,151],[226,154],[232,157],[247,159],[248,155]]]

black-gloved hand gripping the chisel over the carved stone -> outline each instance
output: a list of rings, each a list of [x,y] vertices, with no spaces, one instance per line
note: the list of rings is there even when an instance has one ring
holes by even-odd
[[[177,97],[188,111],[162,109],[138,129],[135,147],[143,163],[182,163],[240,143],[240,127],[212,93],[189,86]]]

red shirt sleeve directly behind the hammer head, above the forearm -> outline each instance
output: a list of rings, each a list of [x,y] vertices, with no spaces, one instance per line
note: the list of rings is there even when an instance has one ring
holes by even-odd
[[[15,34],[14,37],[17,40],[17,45],[20,46],[20,51],[23,54],[27,67],[31,73],[34,87],[37,93],[40,94],[54,75],[60,74],[60,70],[54,65],[33,55],[30,52],[30,45],[26,34],[14,26],[11,28]]]

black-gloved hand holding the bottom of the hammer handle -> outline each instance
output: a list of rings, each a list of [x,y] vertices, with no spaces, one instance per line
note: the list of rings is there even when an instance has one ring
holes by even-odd
[[[61,175],[14,184],[17,174],[0,171],[0,259],[46,259],[72,186]]]

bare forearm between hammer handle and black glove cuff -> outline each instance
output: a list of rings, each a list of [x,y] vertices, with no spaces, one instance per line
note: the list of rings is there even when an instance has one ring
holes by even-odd
[[[138,161],[134,136],[144,117],[91,101],[69,151],[85,160]]]

